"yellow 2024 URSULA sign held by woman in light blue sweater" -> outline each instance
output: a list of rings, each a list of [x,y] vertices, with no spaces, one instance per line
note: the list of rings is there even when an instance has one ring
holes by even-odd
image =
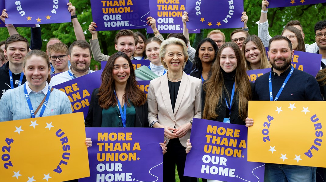
[[[0,122],[1,181],[88,177],[83,113]]]

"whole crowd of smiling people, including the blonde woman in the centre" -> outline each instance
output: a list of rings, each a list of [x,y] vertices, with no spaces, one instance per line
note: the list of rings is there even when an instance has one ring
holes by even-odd
[[[85,127],[164,128],[164,142],[159,143],[164,154],[163,181],[175,180],[175,166],[182,182],[197,181],[183,175],[186,153],[192,148],[188,139],[193,118],[251,127],[254,120],[248,118],[249,100],[324,100],[326,20],[316,23],[316,43],[312,45],[304,44],[298,20],[288,22],[281,35],[271,37],[268,5],[267,0],[262,1],[258,36],[249,35],[248,17],[243,12],[244,27],[230,34],[230,42],[222,31],[213,30],[207,38],[197,37],[195,49],[189,42],[187,12],[182,16],[184,32],[172,33],[166,40],[157,30],[156,20],[148,17],[155,37],[146,39],[140,32],[121,30],[114,40],[117,53],[111,56],[101,53],[96,22],[88,29],[92,39],[89,43],[85,40],[71,3],[67,6],[76,41],[69,47],[53,38],[46,52],[36,50],[42,41],[39,27],[34,27],[33,50],[29,51],[27,39],[14,26],[8,26],[10,37],[0,43],[0,122],[71,113],[66,94],[52,86],[92,73],[89,66],[93,55],[96,61],[108,62],[102,68],[101,86],[92,93]],[[5,22],[8,16],[3,10],[0,19]],[[322,55],[317,80],[291,66],[294,50]],[[148,59],[150,65],[134,70],[131,60],[136,59]],[[246,71],[265,68],[271,71],[254,84],[249,82]],[[151,80],[147,98],[137,80]],[[92,146],[90,138],[85,145]],[[266,163],[264,181],[313,182],[315,173],[316,167]]]

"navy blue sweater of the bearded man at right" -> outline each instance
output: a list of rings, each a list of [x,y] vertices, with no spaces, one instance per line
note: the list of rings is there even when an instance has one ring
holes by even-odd
[[[291,67],[278,76],[272,68],[273,99],[280,90],[284,80],[288,76]],[[270,100],[269,74],[257,78],[255,81],[254,100]],[[301,70],[294,69],[289,81],[285,85],[278,101],[321,101],[322,97],[317,80],[312,75]]]

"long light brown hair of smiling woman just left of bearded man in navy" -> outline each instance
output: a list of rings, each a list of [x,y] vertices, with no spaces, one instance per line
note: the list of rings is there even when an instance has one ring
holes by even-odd
[[[266,56],[266,49],[265,49],[265,46],[263,45],[263,43],[261,42],[260,38],[257,36],[257,35],[250,35],[248,36],[244,42],[243,42],[243,45],[242,45],[242,53],[243,53],[243,56],[244,56],[244,51],[245,51],[245,45],[252,41],[253,43],[256,44],[259,52],[260,52],[260,55],[261,55],[261,59],[260,59],[260,69],[264,69],[264,68],[271,68],[271,64],[269,63],[268,59],[267,59],[267,56]],[[245,56],[244,56],[244,59],[245,59]],[[250,67],[250,62],[247,61],[245,59],[246,63],[245,66],[246,66],[246,70],[250,70],[251,67]]]

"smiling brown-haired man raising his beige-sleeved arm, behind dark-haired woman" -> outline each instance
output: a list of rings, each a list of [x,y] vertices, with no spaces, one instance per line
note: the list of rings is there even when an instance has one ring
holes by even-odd
[[[97,38],[97,32],[95,31],[96,24],[91,23],[88,30],[92,34],[92,39],[89,40],[91,44],[92,53],[96,61],[107,61],[110,56],[101,53],[101,48]],[[131,30],[120,30],[114,38],[115,50],[126,53],[130,60],[137,60],[134,58],[135,46],[139,42],[138,36]]]

